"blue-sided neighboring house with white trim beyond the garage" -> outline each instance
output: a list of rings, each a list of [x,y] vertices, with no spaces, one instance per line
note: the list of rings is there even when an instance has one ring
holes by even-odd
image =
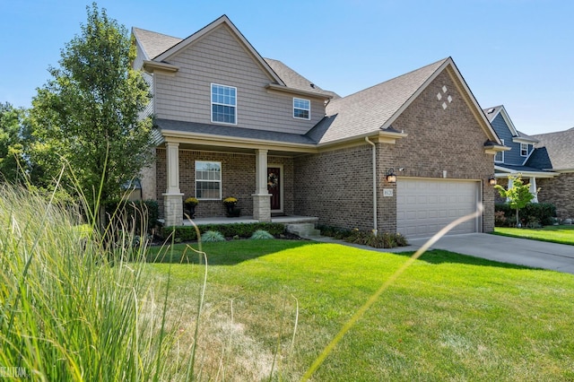
[[[494,156],[495,177],[499,180],[499,184],[508,187],[509,176],[516,177],[519,174],[521,178],[524,178],[525,183],[530,185],[530,193],[535,196],[533,203],[538,203],[537,190],[540,187],[538,184],[540,179],[558,176],[557,173],[547,170],[549,168],[540,167],[533,161],[535,144],[538,140],[519,132],[504,106],[496,106],[483,111],[491,122],[492,128],[499,135],[500,142],[509,148],[509,151],[497,152]],[[504,202],[499,199],[498,193],[496,196],[498,202]]]

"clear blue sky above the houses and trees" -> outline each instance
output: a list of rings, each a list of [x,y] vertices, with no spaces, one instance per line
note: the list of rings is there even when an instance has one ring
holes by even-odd
[[[574,2],[567,0],[101,0],[109,17],[186,38],[227,14],[257,51],[348,95],[452,56],[483,108],[528,135],[574,126]],[[0,102],[29,107],[80,33],[78,0],[2,0]]]

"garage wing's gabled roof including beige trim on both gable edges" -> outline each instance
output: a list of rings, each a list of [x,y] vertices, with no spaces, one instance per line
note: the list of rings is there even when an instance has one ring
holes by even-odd
[[[498,136],[484,117],[478,102],[450,57],[350,96],[332,100],[327,105],[326,117],[311,129],[308,135],[319,143],[327,143],[392,128],[391,124],[404,109],[442,71],[448,68],[449,73],[455,77],[455,81],[465,90],[466,96],[463,95],[463,97],[471,104],[471,109],[474,109],[474,115],[483,126],[487,140],[501,145]]]

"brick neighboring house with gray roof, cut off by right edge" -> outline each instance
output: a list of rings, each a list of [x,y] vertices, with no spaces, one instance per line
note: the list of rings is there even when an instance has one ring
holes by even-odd
[[[574,219],[574,127],[533,138],[539,142],[530,160],[532,165],[560,174],[538,182],[540,200],[554,204],[559,218]]]

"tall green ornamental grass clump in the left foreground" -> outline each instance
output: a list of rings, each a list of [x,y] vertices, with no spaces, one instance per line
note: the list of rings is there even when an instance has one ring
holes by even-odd
[[[170,380],[175,336],[137,260],[144,243],[81,222],[75,206],[0,188],[2,377]]]

